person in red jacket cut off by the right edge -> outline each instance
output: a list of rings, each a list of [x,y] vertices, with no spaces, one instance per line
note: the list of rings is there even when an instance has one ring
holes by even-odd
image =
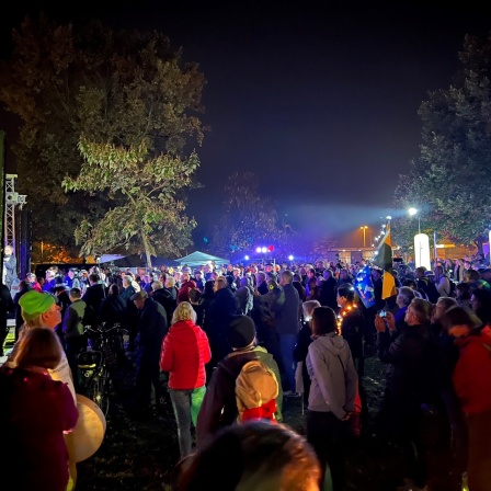
[[[491,329],[469,310],[449,309],[441,320],[456,338],[459,357],[453,374],[468,429],[467,478],[471,491],[491,483]]]

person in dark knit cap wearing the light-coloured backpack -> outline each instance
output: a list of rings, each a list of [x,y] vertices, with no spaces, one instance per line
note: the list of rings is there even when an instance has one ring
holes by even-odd
[[[281,380],[278,366],[271,353],[255,343],[255,326],[249,316],[235,316],[228,324],[227,333],[232,352],[218,363],[206,388],[206,395],[197,416],[196,442],[198,449],[207,445],[222,427],[238,421],[236,379],[246,363],[259,359],[273,370],[276,380]],[[283,421],[282,402],[283,391],[278,384],[275,412],[277,422]]]

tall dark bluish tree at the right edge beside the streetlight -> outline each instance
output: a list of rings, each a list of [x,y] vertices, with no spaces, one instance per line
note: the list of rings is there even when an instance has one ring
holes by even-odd
[[[395,193],[398,208],[421,210],[422,231],[473,242],[480,252],[491,222],[490,54],[490,38],[466,36],[456,81],[420,106],[420,157]],[[393,226],[398,243],[408,240],[398,232],[403,226],[401,220]]]

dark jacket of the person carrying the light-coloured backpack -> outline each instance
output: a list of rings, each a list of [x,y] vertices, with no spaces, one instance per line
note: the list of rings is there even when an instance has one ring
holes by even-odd
[[[246,363],[251,359],[260,359],[275,374],[276,380],[281,380],[279,369],[271,353],[261,346],[238,350],[230,353],[218,363],[212,380],[206,388],[206,395],[197,416],[196,442],[198,448],[222,427],[235,423],[239,416],[236,402],[236,379]],[[278,384],[278,397],[276,399],[276,421],[283,421],[282,401],[283,390]]]

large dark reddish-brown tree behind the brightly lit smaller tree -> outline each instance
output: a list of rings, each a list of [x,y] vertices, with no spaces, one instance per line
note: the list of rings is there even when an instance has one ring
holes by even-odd
[[[0,67],[0,101],[22,123],[13,148],[19,189],[33,210],[34,239],[75,249],[77,226],[96,224],[113,203],[101,194],[65,194],[64,178],[77,180],[91,144],[140,149],[149,161],[190,153],[191,141],[203,138],[197,114],[205,80],[157,32],[114,32],[96,21],[57,25],[42,15],[26,19],[14,42],[12,59]],[[96,168],[85,169],[95,179]],[[77,189],[84,191],[80,182]]]

